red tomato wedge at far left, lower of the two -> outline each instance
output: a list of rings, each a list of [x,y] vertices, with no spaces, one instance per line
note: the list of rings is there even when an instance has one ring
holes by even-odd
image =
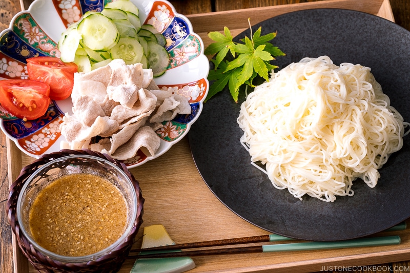
[[[18,118],[43,116],[50,104],[50,87],[36,80],[0,80],[0,104]]]

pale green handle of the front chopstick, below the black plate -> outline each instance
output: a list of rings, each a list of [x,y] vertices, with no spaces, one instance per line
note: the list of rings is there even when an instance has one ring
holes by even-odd
[[[400,241],[401,239],[399,236],[384,236],[384,237],[359,238],[359,239],[335,241],[335,242],[305,242],[305,243],[273,244],[273,245],[263,245],[262,252],[396,245],[396,244],[400,244]]]

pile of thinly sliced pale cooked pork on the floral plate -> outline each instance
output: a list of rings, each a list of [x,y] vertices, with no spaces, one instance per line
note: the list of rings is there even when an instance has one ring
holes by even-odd
[[[151,69],[115,59],[108,65],[74,76],[73,114],[60,125],[61,148],[91,149],[127,160],[145,148],[159,148],[155,130],[177,114],[191,114],[186,97],[159,90]],[[98,141],[93,139],[98,137]]]

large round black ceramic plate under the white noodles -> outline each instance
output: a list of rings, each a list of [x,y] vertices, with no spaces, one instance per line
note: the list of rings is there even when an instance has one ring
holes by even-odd
[[[252,18],[251,18],[252,19]],[[410,120],[410,32],[383,18],[348,10],[315,9],[268,19],[262,34],[277,31],[273,40],[287,55],[279,69],[303,57],[329,56],[336,65],[351,62],[370,67],[394,106]],[[238,35],[243,37],[250,32]],[[374,188],[353,183],[353,197],[333,203],[309,196],[299,200],[277,190],[267,175],[250,164],[240,144],[236,118],[240,103],[228,90],[204,104],[189,132],[195,164],[210,190],[234,213],[282,236],[333,241],[362,237],[392,227],[410,217],[410,148],[393,154],[380,169]]]

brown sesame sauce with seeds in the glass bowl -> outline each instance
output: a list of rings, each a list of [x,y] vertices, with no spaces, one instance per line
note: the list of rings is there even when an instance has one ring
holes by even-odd
[[[90,174],[60,177],[41,190],[29,212],[33,239],[62,256],[86,256],[125,232],[127,204],[109,181]]]

